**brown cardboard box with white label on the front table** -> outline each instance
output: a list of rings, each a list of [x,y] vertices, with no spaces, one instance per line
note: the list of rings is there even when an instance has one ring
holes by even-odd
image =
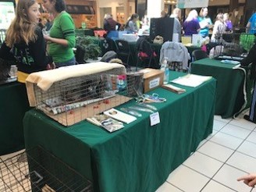
[[[141,73],[144,73],[144,93],[151,91],[157,87],[161,87],[164,80],[164,72],[160,69],[142,69]]]

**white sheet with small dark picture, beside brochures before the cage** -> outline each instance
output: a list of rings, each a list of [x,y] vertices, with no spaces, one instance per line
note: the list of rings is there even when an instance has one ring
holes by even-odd
[[[116,110],[116,108],[111,108],[108,111],[103,112],[106,116],[110,116],[113,119],[122,121],[123,123],[132,123],[137,118],[135,116],[130,116],[124,112],[120,112],[119,110]]]

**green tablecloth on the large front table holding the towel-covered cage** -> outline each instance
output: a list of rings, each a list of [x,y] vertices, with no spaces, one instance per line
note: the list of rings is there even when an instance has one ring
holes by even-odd
[[[184,74],[170,72],[170,78]],[[92,180],[95,191],[155,191],[212,133],[215,82],[185,87],[184,94],[162,88],[149,92],[167,98],[154,104],[161,123],[150,126],[149,114],[144,113],[115,133],[86,121],[65,128],[30,110],[23,119],[26,148],[43,146]]]

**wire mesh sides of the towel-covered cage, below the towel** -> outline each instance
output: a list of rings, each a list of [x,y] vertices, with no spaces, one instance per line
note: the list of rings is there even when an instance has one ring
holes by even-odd
[[[34,84],[37,108],[62,125],[70,126],[130,101],[137,94],[134,90],[141,92],[142,79],[141,74],[119,74],[112,69],[56,82],[48,91]]]

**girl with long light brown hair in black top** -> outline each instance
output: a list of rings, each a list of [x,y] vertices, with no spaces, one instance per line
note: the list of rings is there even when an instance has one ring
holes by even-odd
[[[0,49],[1,59],[17,63],[20,83],[25,83],[29,73],[45,70],[52,63],[52,58],[45,54],[44,36],[38,27],[40,16],[36,0],[19,0]]]

